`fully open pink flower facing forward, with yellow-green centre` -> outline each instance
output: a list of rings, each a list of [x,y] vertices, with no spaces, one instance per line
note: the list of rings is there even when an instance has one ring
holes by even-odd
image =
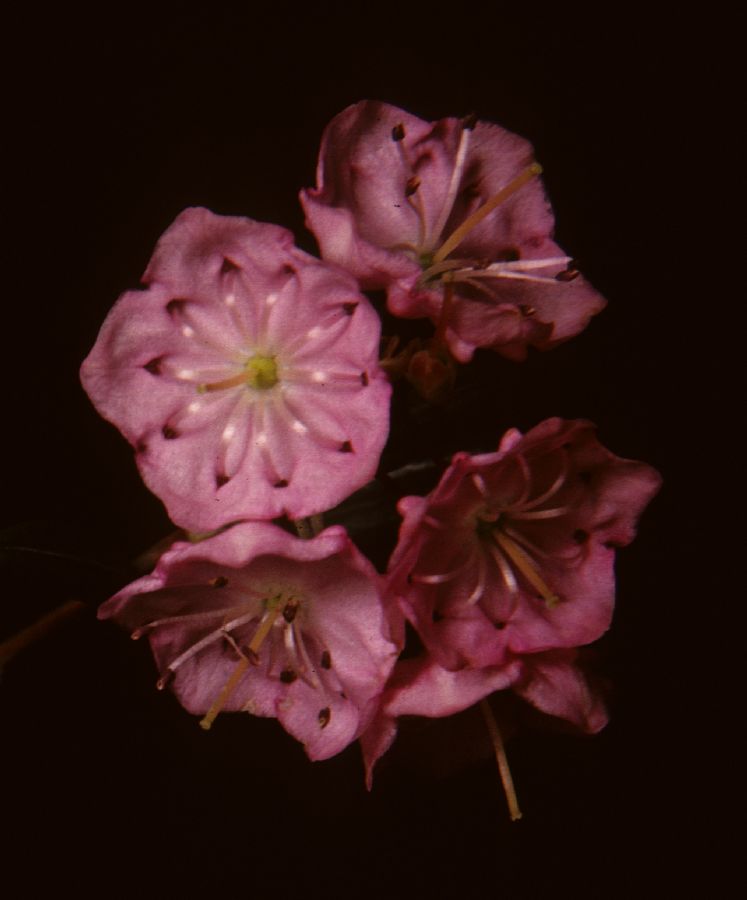
[[[178,525],[311,515],[374,474],[390,387],[353,279],[276,225],[187,209],[83,363]]]

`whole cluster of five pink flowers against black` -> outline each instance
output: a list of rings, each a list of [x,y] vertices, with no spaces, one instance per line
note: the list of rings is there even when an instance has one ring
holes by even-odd
[[[396,367],[362,291],[434,323],[410,357],[426,397],[476,348],[521,360],[603,307],[552,240],[540,172],[496,125],[358,103],[301,193],[322,259],[276,225],[187,209],[110,312],[83,385],[172,520],[212,534],[174,544],[100,616],[148,637],[159,686],[205,728],[223,710],[276,717],[312,759],[360,739],[370,783],[399,716],[498,690],[604,725],[577,648],[610,624],[615,548],[659,478],[588,422],[457,454],[428,496],[400,500],[385,576],[342,526],[315,527],[389,437]],[[398,662],[405,621],[424,653]]]

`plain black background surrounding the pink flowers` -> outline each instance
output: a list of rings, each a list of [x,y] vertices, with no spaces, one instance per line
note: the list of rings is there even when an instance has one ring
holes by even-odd
[[[715,877],[703,823],[719,802],[699,755],[717,713],[696,612],[719,567],[702,587],[692,492],[699,422],[718,415],[694,377],[718,369],[715,352],[703,362],[712,323],[691,315],[709,249],[691,203],[707,37],[629,7],[117,10],[6,23],[0,524],[6,544],[114,571],[6,551],[0,637],[66,600],[105,599],[123,562],[169,530],[78,384],[111,304],[185,206],[283,224],[313,251],[297,191],[313,183],[327,121],[367,97],[425,119],[474,110],[529,138],[558,242],[609,300],[585,333],[523,365],[478,354],[493,387],[479,403],[465,387],[449,449],[584,417],[665,487],[619,556],[597,659],[611,724],[510,742],[521,822],[508,821],[470,714],[403,735],[368,795],[356,747],[310,764],[274,721],[224,716],[203,733],[155,691],[147,647],[83,613],[0,685],[11,895],[697,895],[697,877]],[[413,436],[414,454],[430,433]]]

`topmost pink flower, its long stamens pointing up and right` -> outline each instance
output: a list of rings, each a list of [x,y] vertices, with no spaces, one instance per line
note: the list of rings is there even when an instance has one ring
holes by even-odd
[[[485,122],[424,122],[363,101],[327,126],[302,191],[325,259],[391,311],[429,317],[454,356],[523,359],[578,334],[605,304],[552,240],[527,141]]]

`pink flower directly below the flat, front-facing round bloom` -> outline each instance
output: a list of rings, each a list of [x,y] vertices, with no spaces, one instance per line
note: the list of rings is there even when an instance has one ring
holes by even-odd
[[[276,717],[311,759],[367,727],[398,652],[380,577],[340,526],[300,540],[248,522],[175,544],[99,617],[148,635],[159,687],[203,727],[221,710]]]

